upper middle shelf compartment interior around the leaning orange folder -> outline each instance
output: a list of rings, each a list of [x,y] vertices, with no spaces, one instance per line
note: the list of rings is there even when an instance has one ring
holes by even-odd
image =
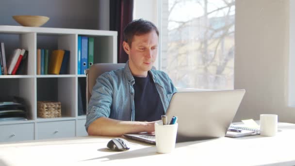
[[[67,62],[67,74],[75,74],[77,55],[76,34],[40,34],[37,33],[36,49],[49,50],[49,57],[53,50],[69,50],[70,55]],[[49,59],[50,62],[50,59]],[[48,62],[48,63],[49,63]],[[36,61],[37,64],[37,61]],[[37,69],[37,68],[36,68]]]

